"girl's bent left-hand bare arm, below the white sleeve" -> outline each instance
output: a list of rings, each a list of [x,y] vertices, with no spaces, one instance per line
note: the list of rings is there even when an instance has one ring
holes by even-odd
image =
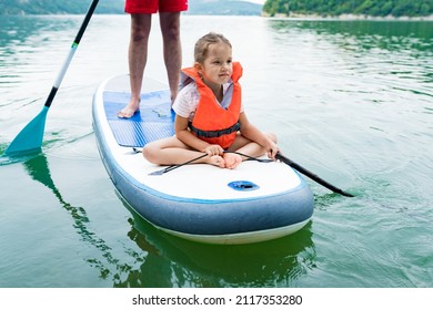
[[[189,130],[188,130],[188,118],[182,117],[179,115],[175,115],[174,120],[174,132],[175,136],[190,146],[193,149],[197,149],[199,152],[208,153],[208,155],[221,155],[224,153],[224,149],[218,145],[218,144],[209,144],[208,142],[204,142],[197,136],[194,136]]]

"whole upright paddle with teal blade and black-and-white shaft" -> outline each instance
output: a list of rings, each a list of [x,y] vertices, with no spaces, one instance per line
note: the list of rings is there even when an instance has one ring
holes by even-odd
[[[4,151],[6,155],[13,156],[26,153],[37,153],[41,149],[48,110],[50,108],[56,93],[59,90],[60,84],[63,80],[63,76],[67,73],[68,66],[71,63],[73,54],[75,53],[78,44],[80,43],[81,37],[83,35],[85,28],[89,24],[90,18],[92,17],[94,9],[97,8],[98,1],[99,0],[93,0],[93,2],[90,4],[85,18],[81,24],[81,28],[78,31],[75,40],[71,45],[71,50],[63,63],[63,66],[61,68],[59,75],[54,81],[51,92],[47,97],[42,111],[11,142],[11,144]]]

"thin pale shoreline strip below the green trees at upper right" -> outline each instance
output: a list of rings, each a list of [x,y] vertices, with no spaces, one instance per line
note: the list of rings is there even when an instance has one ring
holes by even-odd
[[[271,17],[268,13],[262,12],[262,17],[271,19],[293,19],[293,20],[371,20],[371,21],[433,21],[433,16],[427,17],[372,17],[364,14],[341,14],[341,16],[320,16],[320,14],[300,14],[300,13],[290,13],[286,14],[275,14]]]

